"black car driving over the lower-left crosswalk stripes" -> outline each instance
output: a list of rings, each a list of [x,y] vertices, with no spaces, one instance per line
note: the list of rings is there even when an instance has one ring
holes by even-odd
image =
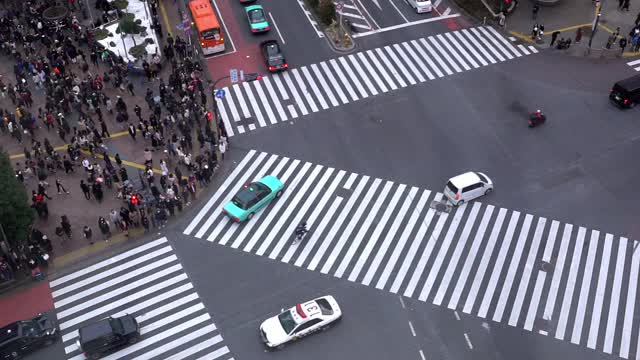
[[[99,359],[140,339],[140,325],[131,315],[108,317],[80,328],[80,348],[88,359]]]

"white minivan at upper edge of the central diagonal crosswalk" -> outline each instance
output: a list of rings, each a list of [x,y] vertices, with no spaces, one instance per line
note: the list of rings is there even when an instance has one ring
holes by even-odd
[[[493,191],[493,182],[481,172],[469,171],[447,181],[444,195],[455,206]]]

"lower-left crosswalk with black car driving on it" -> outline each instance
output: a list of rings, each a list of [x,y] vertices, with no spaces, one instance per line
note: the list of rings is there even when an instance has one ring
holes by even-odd
[[[78,329],[131,314],[141,339],[102,359],[233,360],[166,238],[51,281],[68,359],[83,360]]]

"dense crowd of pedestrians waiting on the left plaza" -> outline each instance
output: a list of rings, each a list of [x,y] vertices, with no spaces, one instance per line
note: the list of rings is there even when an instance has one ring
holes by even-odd
[[[0,131],[24,153],[15,163],[15,175],[31,189],[32,207],[42,219],[49,216],[48,202],[55,201],[50,182],[59,195],[73,190],[68,174],[82,176],[78,185],[89,202],[100,203],[105,196],[120,199],[120,209],[111,209],[95,223],[76,224],[91,244],[93,228],[108,240],[116,231],[163,227],[191,203],[198,187],[208,185],[218,167],[218,151],[224,156],[228,147],[222,124],[217,124],[218,136],[210,126],[210,90],[201,65],[188,43],[171,35],[162,47],[163,61],[158,55],[139,64],[125,61],[98,44],[75,15],[75,5],[64,26],[47,23],[42,13],[53,3],[11,2],[0,17],[0,57],[11,61],[14,74],[13,79],[0,76]],[[98,4],[102,15],[108,12],[103,1]],[[157,19],[157,1],[148,4]],[[136,89],[141,86],[144,92]],[[127,94],[144,94],[145,101],[131,109],[123,99]],[[34,96],[44,99],[44,105],[34,106]],[[110,152],[108,123],[126,129],[131,141],[145,149],[144,171],[132,176],[132,167]],[[64,149],[52,145],[55,136],[66,144]],[[57,216],[56,234],[61,241],[70,239],[72,220]],[[0,276],[7,274],[3,264],[8,263],[0,259]]]

